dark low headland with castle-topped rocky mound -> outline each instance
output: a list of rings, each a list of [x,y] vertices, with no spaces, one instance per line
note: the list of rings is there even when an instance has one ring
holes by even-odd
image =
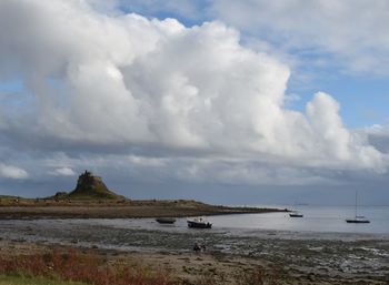
[[[0,218],[130,218],[285,212],[279,208],[210,205],[193,200],[131,200],[83,172],[74,190],[49,197],[0,196]]]

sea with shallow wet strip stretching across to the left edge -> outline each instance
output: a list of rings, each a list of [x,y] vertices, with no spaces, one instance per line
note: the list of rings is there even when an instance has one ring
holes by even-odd
[[[363,215],[369,224],[349,224],[355,217],[353,206],[285,206],[259,205],[296,210],[303,217],[290,217],[289,213],[230,214],[207,216],[211,230],[188,228],[187,217],[177,218],[173,225],[163,225],[154,218],[44,218],[1,220],[0,238],[28,241],[73,241],[84,240],[107,245],[128,244],[128,234],[148,236],[200,236],[222,235],[236,237],[259,237],[281,240],[329,240],[329,241],[389,241],[389,206],[359,206],[358,215]],[[91,233],[93,233],[91,235]],[[112,234],[117,233],[117,240]],[[159,233],[159,234],[157,234]],[[168,234],[164,235],[163,233]],[[170,235],[171,234],[171,235]],[[121,238],[126,236],[126,238]],[[141,241],[144,237],[139,237]]]

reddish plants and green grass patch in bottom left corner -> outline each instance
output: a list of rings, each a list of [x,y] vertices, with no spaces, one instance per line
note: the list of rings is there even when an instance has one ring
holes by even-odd
[[[0,256],[0,276],[6,278],[3,283],[1,283],[0,279],[0,285],[77,284],[69,283],[70,281],[92,285],[173,284],[167,272],[152,272],[137,265],[129,266],[120,261],[108,263],[99,255],[80,253],[74,250],[53,251],[34,255]],[[32,278],[29,279],[18,276],[31,276]],[[60,281],[63,282],[60,283]]]

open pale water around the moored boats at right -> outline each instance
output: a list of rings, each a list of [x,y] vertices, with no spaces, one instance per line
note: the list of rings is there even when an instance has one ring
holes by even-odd
[[[290,208],[290,207],[289,207]],[[260,228],[293,232],[389,234],[389,206],[360,206],[370,224],[348,224],[355,216],[353,206],[298,206],[303,217],[289,217],[288,213],[243,214],[212,216],[209,221],[217,227]]]

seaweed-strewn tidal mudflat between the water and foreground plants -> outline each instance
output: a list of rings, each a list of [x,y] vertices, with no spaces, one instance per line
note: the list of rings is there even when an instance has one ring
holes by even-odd
[[[131,253],[151,264],[160,258],[189,279],[191,272],[215,267],[216,276],[228,276],[232,268],[260,265],[276,276],[277,284],[389,283],[388,235],[227,227],[199,231],[187,228],[183,218],[174,226],[137,218],[14,220],[0,221],[0,227],[3,242]],[[197,241],[207,245],[201,255],[192,253]],[[219,278],[219,284],[226,278]]]

